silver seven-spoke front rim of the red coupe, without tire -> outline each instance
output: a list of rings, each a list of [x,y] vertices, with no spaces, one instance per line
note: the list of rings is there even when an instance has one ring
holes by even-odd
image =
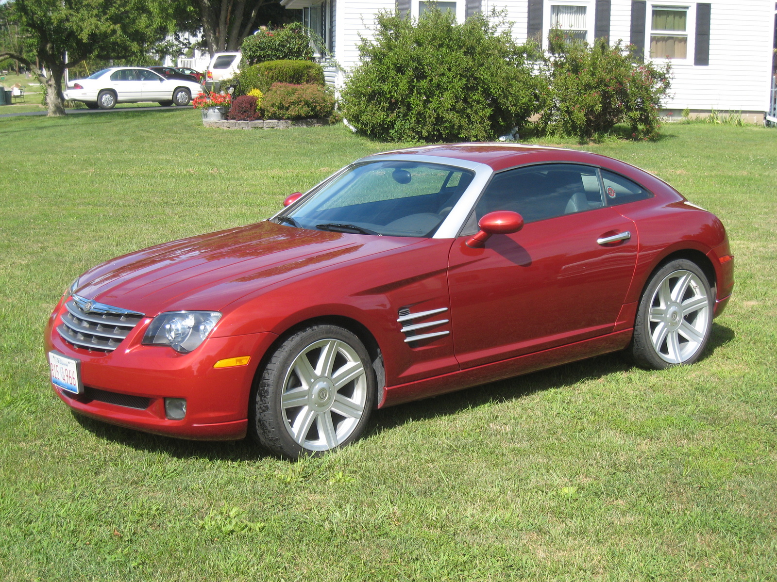
[[[280,397],[284,425],[308,451],[327,451],[357,428],[367,402],[367,372],[344,341],[314,341],[286,372]]]

